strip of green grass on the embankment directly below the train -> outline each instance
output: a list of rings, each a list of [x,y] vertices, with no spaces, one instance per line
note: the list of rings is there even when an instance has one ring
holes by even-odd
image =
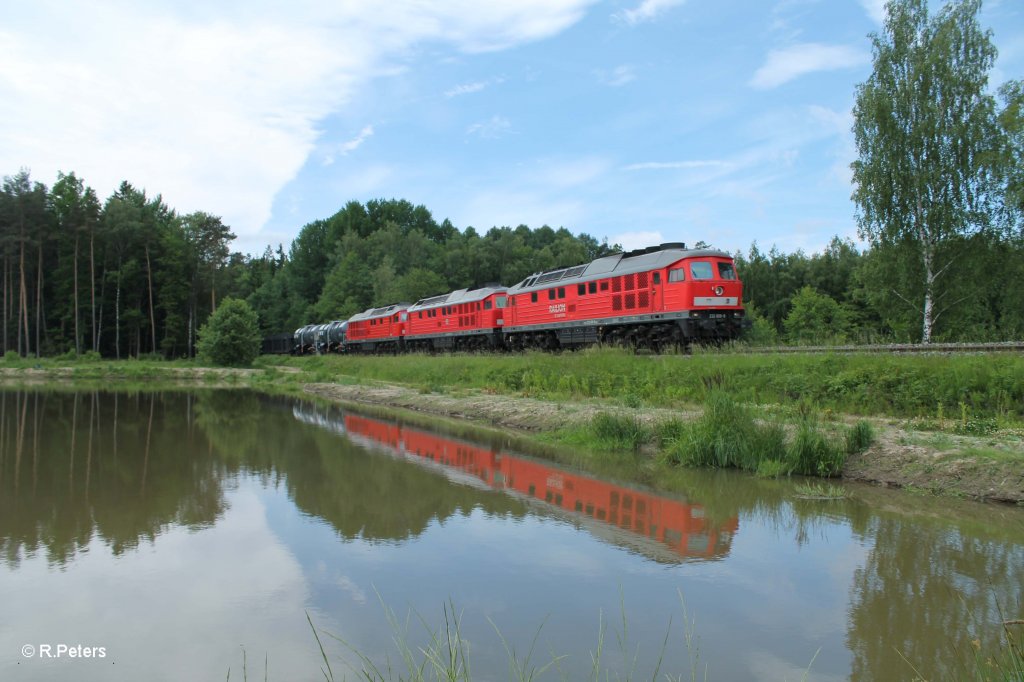
[[[720,391],[753,404],[804,400],[836,413],[955,415],[962,428],[972,430],[1024,418],[1024,357],[1018,353],[636,355],[591,348],[558,354],[311,356],[266,361],[412,386],[486,389],[554,400],[601,398],[625,407],[702,402],[712,391]]]

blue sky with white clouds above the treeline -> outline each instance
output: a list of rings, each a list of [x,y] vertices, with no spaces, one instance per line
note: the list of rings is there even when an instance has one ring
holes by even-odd
[[[938,7],[939,3],[933,3]],[[391,0],[7,7],[0,173],[121,179],[287,249],[350,200],[483,232],[783,251],[856,238],[854,88],[881,0]],[[1024,3],[988,0],[993,87]]]

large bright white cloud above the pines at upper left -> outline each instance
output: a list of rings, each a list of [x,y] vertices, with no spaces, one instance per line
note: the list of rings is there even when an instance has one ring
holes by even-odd
[[[317,123],[418,45],[504,49],[563,31],[593,1],[25,3],[0,31],[0,160],[45,182],[75,171],[101,197],[128,179],[223,216],[242,244]]]

